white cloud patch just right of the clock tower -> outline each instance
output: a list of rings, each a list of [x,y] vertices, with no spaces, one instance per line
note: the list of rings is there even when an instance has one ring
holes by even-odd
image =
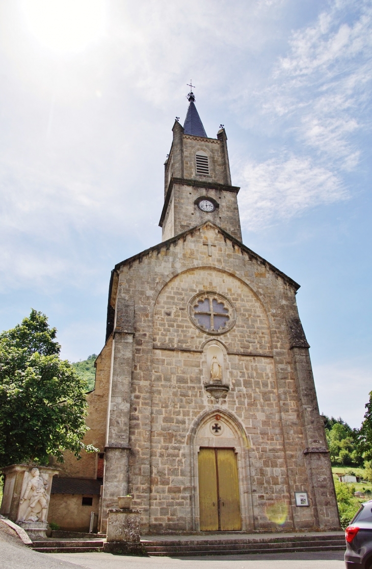
[[[242,225],[250,230],[348,197],[340,179],[310,158],[250,162],[242,167],[238,178]]]

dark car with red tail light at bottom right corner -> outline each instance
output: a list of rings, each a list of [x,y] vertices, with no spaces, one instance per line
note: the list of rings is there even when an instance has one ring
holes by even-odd
[[[372,500],[363,502],[345,529],[346,569],[372,569]]]

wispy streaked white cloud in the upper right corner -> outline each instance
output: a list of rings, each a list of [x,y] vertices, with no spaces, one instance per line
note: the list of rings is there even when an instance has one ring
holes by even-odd
[[[356,10],[352,22],[344,21],[351,15],[347,8]],[[317,152],[317,160],[350,171],[361,154],[356,134],[370,127],[370,2],[333,2],[315,24],[295,31],[289,44],[266,91],[264,110],[288,121],[287,129]]]

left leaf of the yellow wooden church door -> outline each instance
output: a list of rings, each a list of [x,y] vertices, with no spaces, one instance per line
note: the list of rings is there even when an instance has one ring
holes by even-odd
[[[201,448],[199,467],[200,531],[218,531],[217,464],[214,448]]]

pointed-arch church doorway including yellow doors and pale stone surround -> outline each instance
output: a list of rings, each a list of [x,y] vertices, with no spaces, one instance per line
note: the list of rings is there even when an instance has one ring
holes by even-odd
[[[192,465],[193,528],[249,531],[253,516],[249,447],[245,430],[229,412],[205,412],[189,434]]]

